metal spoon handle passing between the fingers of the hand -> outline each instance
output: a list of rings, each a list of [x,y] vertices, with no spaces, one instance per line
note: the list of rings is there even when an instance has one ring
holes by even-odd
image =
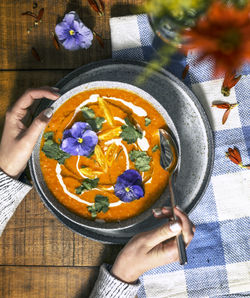
[[[174,206],[176,205],[176,203],[175,203],[175,197],[174,197],[174,191],[173,191],[172,177],[173,175],[170,175],[169,177],[170,199],[171,199],[171,205],[173,209],[174,220],[177,220],[177,216],[174,213]],[[180,265],[185,265],[187,264],[187,253],[186,253],[186,248],[185,248],[185,243],[183,240],[182,233],[176,236],[176,242],[177,242],[177,248],[179,253]]]

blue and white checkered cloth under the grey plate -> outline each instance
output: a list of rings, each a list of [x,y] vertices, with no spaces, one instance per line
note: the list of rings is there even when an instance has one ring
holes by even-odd
[[[149,60],[154,33],[146,15],[111,18],[113,58]],[[212,78],[211,61],[195,65],[194,53],[176,55],[168,70],[181,78],[207,112],[215,138],[215,164],[208,189],[190,214],[196,225],[187,249],[188,264],[158,267],[142,278],[138,297],[250,297],[250,170],[225,158],[228,147],[240,149],[243,164],[250,163],[250,66],[229,97],[221,94],[223,78]],[[225,110],[213,101],[239,103],[225,125]],[[241,294],[240,294],[241,293]],[[242,294],[244,293],[244,294]]]

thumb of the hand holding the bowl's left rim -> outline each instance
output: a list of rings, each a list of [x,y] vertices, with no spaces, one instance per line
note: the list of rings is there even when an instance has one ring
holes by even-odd
[[[29,140],[29,143],[33,146],[35,145],[40,133],[49,123],[53,115],[53,108],[47,108],[42,111],[31,123],[30,127],[27,129],[25,138]]]

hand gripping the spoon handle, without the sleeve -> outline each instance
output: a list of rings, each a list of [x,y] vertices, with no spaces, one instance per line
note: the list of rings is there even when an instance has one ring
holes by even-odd
[[[182,231],[188,246],[195,227],[180,209],[174,208],[174,213],[178,221],[170,220],[159,228],[133,237],[116,258],[111,274],[126,283],[134,283],[145,271],[177,261],[175,236]],[[154,216],[172,219],[173,214],[171,209],[163,207],[160,214],[154,213]]]

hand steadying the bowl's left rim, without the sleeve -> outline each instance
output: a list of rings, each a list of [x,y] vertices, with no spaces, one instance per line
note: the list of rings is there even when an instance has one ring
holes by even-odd
[[[56,100],[57,88],[28,89],[7,111],[0,143],[0,169],[18,178],[25,169],[37,138],[53,115],[52,108],[41,112],[32,122],[32,112],[43,97]],[[29,125],[30,124],[30,125]]]

